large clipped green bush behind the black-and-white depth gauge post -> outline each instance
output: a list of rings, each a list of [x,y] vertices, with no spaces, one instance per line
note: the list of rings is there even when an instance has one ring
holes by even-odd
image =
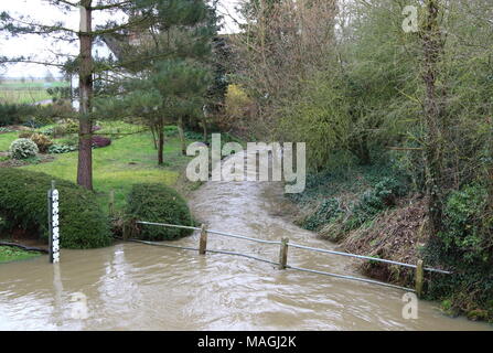
[[[94,193],[65,180],[17,168],[0,169],[0,214],[12,228],[47,239],[46,190],[55,180],[60,191],[61,246],[94,248],[111,244],[109,221]]]

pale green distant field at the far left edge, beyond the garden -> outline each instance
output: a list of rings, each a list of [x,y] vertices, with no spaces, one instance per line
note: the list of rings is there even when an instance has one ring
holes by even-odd
[[[33,104],[51,98],[46,93],[47,88],[67,86],[66,82],[3,79],[0,82],[0,103]]]

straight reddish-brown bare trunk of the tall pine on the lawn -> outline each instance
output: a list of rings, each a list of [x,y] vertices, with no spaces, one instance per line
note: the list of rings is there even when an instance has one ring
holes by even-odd
[[[92,31],[92,0],[81,2],[81,67],[79,67],[79,96],[81,118],[78,138],[77,184],[93,190],[93,146],[90,120],[90,98],[93,96],[93,36]]]

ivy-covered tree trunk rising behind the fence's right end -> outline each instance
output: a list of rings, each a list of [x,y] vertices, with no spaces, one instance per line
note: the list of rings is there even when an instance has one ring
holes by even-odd
[[[443,51],[443,43],[438,23],[439,0],[427,0],[426,22],[422,30],[422,79],[426,86],[425,97],[425,159],[426,189],[428,195],[428,212],[432,234],[442,228],[443,202],[443,105],[437,93],[437,77]]]

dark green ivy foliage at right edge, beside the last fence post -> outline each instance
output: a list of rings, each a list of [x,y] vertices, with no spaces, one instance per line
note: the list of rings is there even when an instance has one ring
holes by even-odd
[[[453,274],[433,278],[429,298],[447,301],[449,313],[493,321],[493,216],[487,189],[472,183],[451,192],[443,226],[426,245],[425,260]]]

